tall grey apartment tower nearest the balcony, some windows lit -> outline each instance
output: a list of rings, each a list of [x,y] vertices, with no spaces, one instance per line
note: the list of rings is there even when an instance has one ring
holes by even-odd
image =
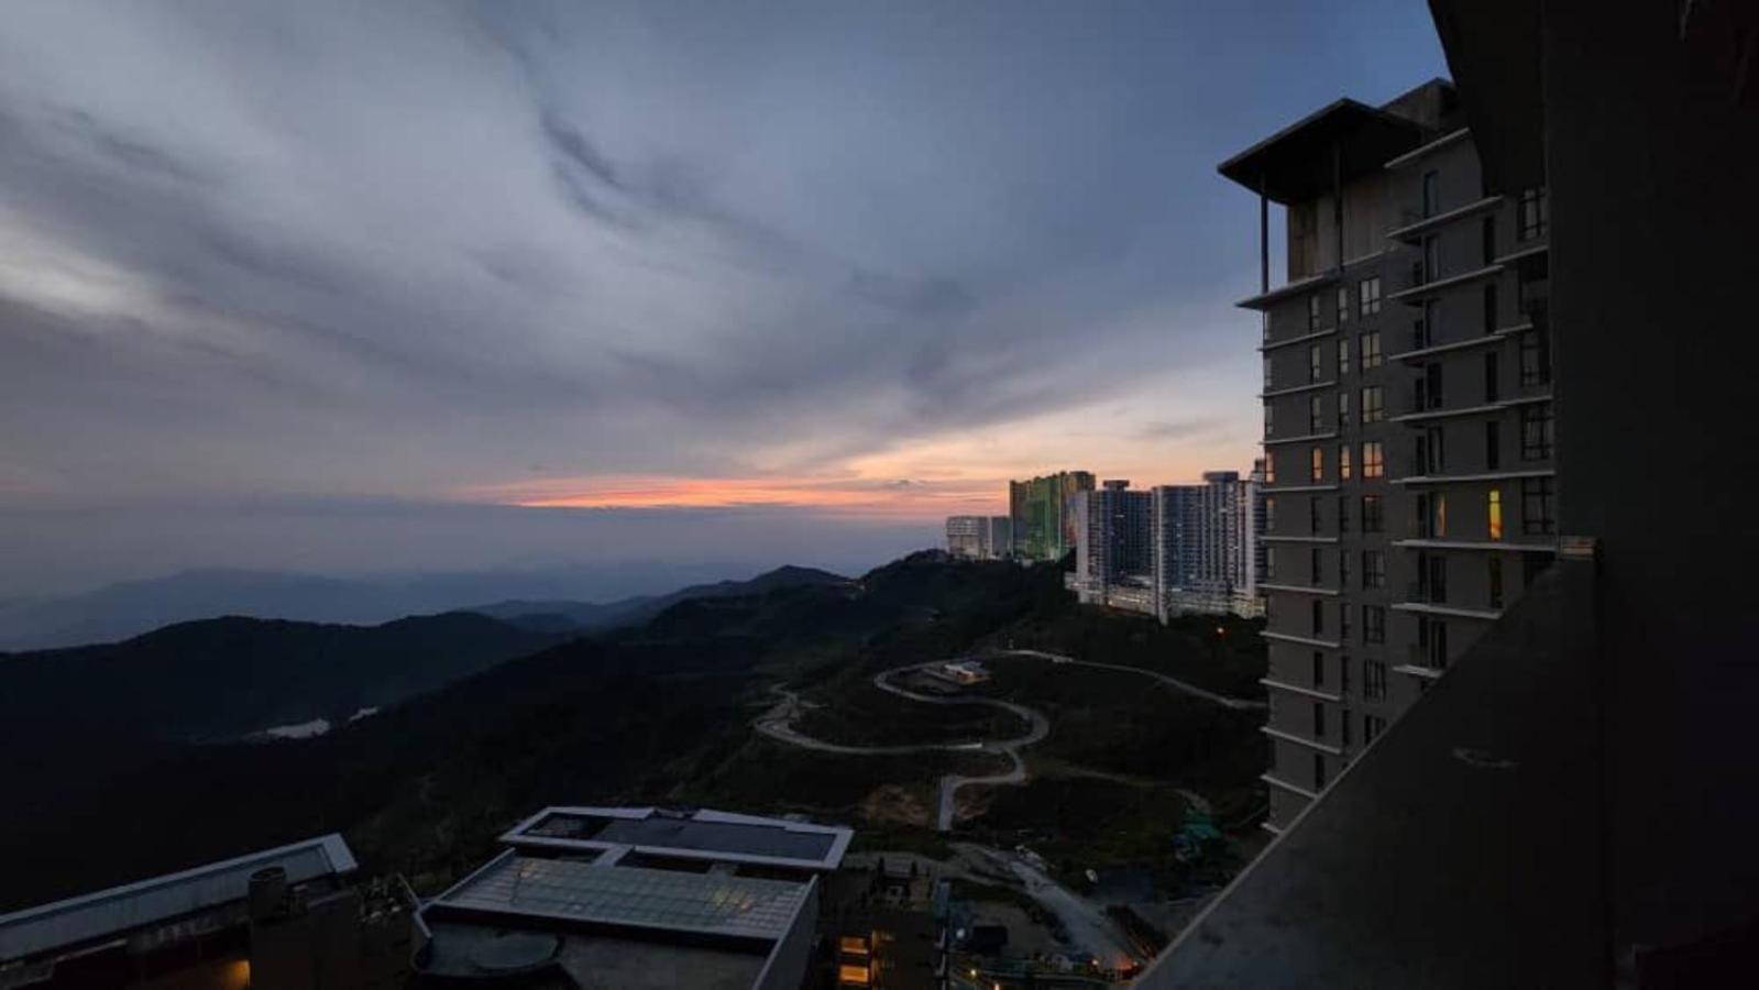
[[[1453,88],[1230,158],[1259,193],[1272,830],[1557,547],[1544,186],[1490,193]],[[1270,285],[1270,204],[1288,281]]]

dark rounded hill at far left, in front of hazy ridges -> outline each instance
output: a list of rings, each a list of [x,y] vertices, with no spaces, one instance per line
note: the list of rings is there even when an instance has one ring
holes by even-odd
[[[468,612],[382,626],[230,615],[120,644],[0,654],[0,753],[14,795],[77,788],[195,742],[343,724],[561,638]]]

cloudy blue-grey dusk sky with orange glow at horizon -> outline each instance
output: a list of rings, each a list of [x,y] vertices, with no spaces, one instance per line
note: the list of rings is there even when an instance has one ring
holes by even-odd
[[[12,0],[0,596],[853,568],[1256,454],[1215,164],[1421,2]]]

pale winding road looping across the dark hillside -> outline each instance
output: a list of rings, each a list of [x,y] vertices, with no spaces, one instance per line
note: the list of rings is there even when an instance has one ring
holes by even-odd
[[[1152,681],[1166,684],[1168,688],[1173,688],[1175,691],[1184,691],[1186,695],[1193,695],[1196,698],[1203,698],[1207,702],[1214,702],[1217,705],[1223,705],[1223,707],[1233,709],[1233,710],[1256,710],[1256,709],[1263,709],[1265,707],[1265,702],[1258,702],[1258,700],[1252,700],[1252,698],[1230,698],[1228,695],[1219,695],[1215,691],[1208,691],[1205,688],[1198,688],[1196,684],[1189,684],[1189,682],[1180,681],[1177,677],[1168,677],[1164,673],[1157,673],[1154,670],[1143,670],[1140,666],[1124,666],[1124,665],[1119,665],[1119,663],[1094,663],[1094,661],[1089,661],[1089,659],[1075,659],[1071,656],[1062,656],[1062,654],[1055,654],[1055,652],[1043,652],[1043,651],[1034,651],[1034,649],[1015,649],[1015,651],[1006,651],[1006,652],[985,654],[982,659],[985,663],[992,663],[996,659],[1004,659],[1004,658],[1010,658],[1010,656],[1029,656],[1029,658],[1034,658],[1034,659],[1048,659],[1048,661],[1059,663],[1059,665],[1094,666],[1094,668],[1099,668],[1099,670],[1122,670],[1124,673],[1140,673],[1142,677],[1149,677]],[[1024,784],[1025,783],[1025,760],[1020,758],[1020,749],[1024,749],[1027,746],[1033,746],[1033,744],[1043,740],[1047,735],[1050,735],[1050,719],[1047,719],[1045,714],[1040,712],[1038,709],[1029,709],[1025,705],[1018,705],[1018,703],[1013,703],[1013,702],[1003,702],[1003,700],[997,700],[997,698],[980,698],[980,696],[974,696],[974,695],[959,695],[959,696],[953,696],[953,698],[941,698],[941,696],[934,696],[934,695],[920,695],[920,693],[911,691],[908,688],[899,688],[897,684],[892,682],[892,677],[895,677],[899,673],[908,673],[908,672],[913,672],[913,670],[922,670],[922,668],[931,666],[934,663],[939,663],[939,661],[911,663],[911,665],[894,666],[890,670],[883,670],[880,673],[874,673],[874,688],[878,688],[881,691],[887,691],[890,695],[897,695],[901,698],[908,698],[911,702],[922,702],[922,703],[927,703],[927,705],[989,705],[989,707],[994,707],[994,709],[1003,709],[1003,710],[1013,712],[1015,716],[1025,719],[1025,723],[1029,726],[1027,732],[1025,732],[1025,735],[1020,735],[1017,739],[1004,739],[1004,740],[923,742],[923,744],[915,744],[915,746],[843,746],[843,744],[837,744],[837,742],[825,742],[821,739],[813,739],[813,737],[809,737],[809,735],[806,735],[806,733],[802,733],[802,732],[799,732],[799,730],[793,728],[793,721],[800,714],[800,709],[807,707],[809,703],[802,702],[797,693],[788,691],[786,688],[783,688],[779,684],[774,686],[774,688],[770,688],[770,691],[774,691],[779,700],[776,702],[774,707],[770,707],[762,716],[758,716],[758,719],[755,723],[755,728],[758,732],[762,732],[763,735],[767,735],[770,739],[776,739],[779,742],[786,742],[790,746],[799,746],[802,749],[814,749],[818,753],[839,753],[839,754],[848,754],[848,756],[895,756],[895,754],[904,754],[904,753],[931,753],[931,751],[939,751],[939,753],[992,753],[992,754],[997,754],[997,756],[1006,756],[1008,761],[1013,763],[1013,767],[1008,772],[1004,772],[1004,774],[989,774],[989,775],[980,775],[980,777],[969,777],[969,775],[962,775],[962,774],[946,774],[945,777],[941,777],[939,811],[936,812],[936,825],[934,826],[939,832],[950,832],[952,826],[953,826],[953,811],[957,809],[957,795],[959,795],[960,790],[964,790],[964,788],[967,788],[971,784],[1008,786],[1008,784]]]

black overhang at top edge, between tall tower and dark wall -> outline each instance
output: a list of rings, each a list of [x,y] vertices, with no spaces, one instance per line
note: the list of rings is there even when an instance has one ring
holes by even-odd
[[[1428,0],[1490,192],[1544,185],[1544,81],[1532,0]]]

